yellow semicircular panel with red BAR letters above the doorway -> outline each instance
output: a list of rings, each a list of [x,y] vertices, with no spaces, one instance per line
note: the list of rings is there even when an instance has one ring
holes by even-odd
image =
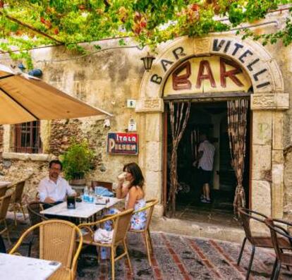
[[[248,75],[238,64],[221,56],[194,57],[169,76],[164,97],[204,92],[248,92]]]

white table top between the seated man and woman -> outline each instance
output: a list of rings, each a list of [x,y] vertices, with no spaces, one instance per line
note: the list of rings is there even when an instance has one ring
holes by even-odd
[[[66,216],[66,217],[88,219],[92,215],[101,211],[102,209],[109,208],[115,205],[116,203],[118,203],[119,201],[121,201],[121,199],[118,199],[116,197],[102,197],[102,199],[98,200],[98,202],[105,202],[106,199],[109,199],[109,202],[107,202],[107,205],[96,205],[95,203],[89,203],[89,202],[76,202],[75,209],[68,209],[67,202],[62,202],[59,205],[55,205],[53,207],[45,209],[44,211],[41,211],[40,213],[56,215],[56,216]]]

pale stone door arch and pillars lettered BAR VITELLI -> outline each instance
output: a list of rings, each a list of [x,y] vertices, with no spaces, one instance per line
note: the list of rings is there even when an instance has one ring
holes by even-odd
[[[241,40],[236,35],[210,35],[204,38],[181,37],[164,44],[159,50],[152,70],[145,73],[140,86],[140,99],[135,111],[140,113],[140,154],[139,164],[147,181],[145,189],[148,197],[157,197],[161,204],[156,207],[162,215],[163,185],[166,181],[163,170],[164,154],[164,85],[170,73],[190,56],[217,55],[236,62],[248,73],[253,85],[250,110],[253,112],[253,134],[250,139],[250,207],[273,217],[281,217],[283,200],[281,184],[284,166],[281,122],[284,110],[288,109],[288,94],[284,93],[284,83],[279,67],[272,56],[257,42]],[[198,100],[200,97],[197,96]],[[154,128],[154,129],[151,129]],[[276,181],[270,176],[277,171]],[[278,178],[279,177],[279,178]],[[277,191],[273,191],[277,190]],[[272,196],[273,193],[273,196]]]

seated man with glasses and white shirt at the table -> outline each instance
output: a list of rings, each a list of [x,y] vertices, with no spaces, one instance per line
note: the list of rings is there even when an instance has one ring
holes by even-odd
[[[57,204],[66,200],[66,195],[75,196],[75,190],[60,175],[62,163],[52,160],[49,163],[49,176],[39,182],[39,200],[41,202]]]

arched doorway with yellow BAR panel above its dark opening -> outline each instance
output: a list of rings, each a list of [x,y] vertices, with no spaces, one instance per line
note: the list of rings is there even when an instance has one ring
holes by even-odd
[[[227,103],[231,99],[250,99],[252,84],[248,74],[234,61],[223,56],[190,56],[186,57],[181,65],[169,73],[164,83],[163,99],[165,102],[166,126],[164,126],[164,145],[167,153],[164,162],[167,162],[166,184],[164,183],[164,205],[168,205],[169,214],[181,219],[195,219],[211,223],[224,224],[224,219],[233,221],[233,199],[236,191],[236,174],[231,167],[231,151],[229,147],[229,124],[224,123],[228,117]],[[168,104],[181,104],[190,102],[190,113],[185,129],[178,123],[178,111],[170,111]],[[179,106],[179,105],[177,105]],[[176,116],[171,116],[175,114]],[[172,123],[172,125],[171,125]],[[173,124],[175,123],[175,124]],[[176,174],[178,187],[176,191],[175,210],[172,205],[171,185],[174,165],[171,157],[174,153],[172,145],[175,140],[171,130],[182,128],[183,136],[177,147]],[[250,126],[245,125],[245,130]],[[200,138],[207,135],[208,142],[215,147],[212,157],[212,176],[209,181],[211,200],[202,197],[202,172],[193,162],[200,153]],[[225,137],[227,136],[227,137]],[[244,138],[247,145],[247,158],[249,159],[249,141]],[[176,148],[175,148],[176,150]],[[210,159],[211,160],[211,159]],[[249,162],[245,163],[244,182],[245,193],[249,193]],[[247,201],[248,203],[248,201]],[[198,215],[200,213],[200,215]],[[166,212],[166,214],[168,214]],[[223,220],[222,220],[223,219]]]

